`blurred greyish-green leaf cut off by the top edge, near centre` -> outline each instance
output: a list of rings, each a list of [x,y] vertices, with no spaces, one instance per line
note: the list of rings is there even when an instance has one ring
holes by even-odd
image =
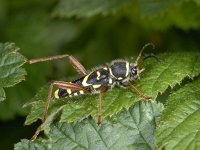
[[[91,17],[96,14],[115,13],[130,4],[131,0],[61,0],[54,14],[60,17]]]

